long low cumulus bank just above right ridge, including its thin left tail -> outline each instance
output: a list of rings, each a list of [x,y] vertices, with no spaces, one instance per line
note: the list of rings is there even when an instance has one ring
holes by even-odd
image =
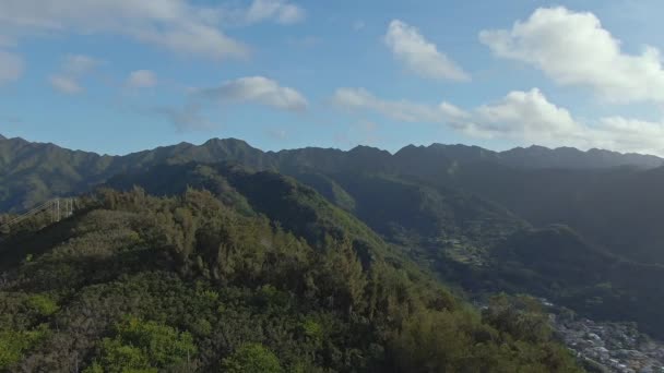
[[[386,100],[364,88],[340,88],[333,103],[347,110],[374,111],[402,122],[444,123],[474,137],[664,155],[664,122],[624,117],[583,122],[550,103],[537,88],[510,92],[497,101],[470,111],[446,101],[427,105]]]

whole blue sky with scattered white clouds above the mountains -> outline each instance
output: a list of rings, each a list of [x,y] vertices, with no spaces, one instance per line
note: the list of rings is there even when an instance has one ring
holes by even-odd
[[[0,134],[664,156],[661,0],[0,0]]]

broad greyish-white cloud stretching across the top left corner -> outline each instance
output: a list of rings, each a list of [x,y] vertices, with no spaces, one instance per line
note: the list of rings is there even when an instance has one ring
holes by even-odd
[[[186,0],[3,0],[0,24],[19,36],[51,33],[123,35],[186,56],[242,58],[249,49],[218,27],[218,8]]]

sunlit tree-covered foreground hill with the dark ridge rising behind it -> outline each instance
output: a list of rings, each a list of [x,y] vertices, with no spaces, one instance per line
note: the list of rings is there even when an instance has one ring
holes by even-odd
[[[473,310],[313,190],[223,170],[195,168],[212,193],[165,178],[173,196],[105,189],[15,228],[0,370],[580,371],[538,302]]]

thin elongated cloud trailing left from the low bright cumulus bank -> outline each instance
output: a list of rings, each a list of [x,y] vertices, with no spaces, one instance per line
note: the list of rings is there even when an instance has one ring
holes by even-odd
[[[365,88],[339,88],[334,93],[332,101],[347,110],[376,111],[387,118],[403,122],[443,122],[454,117],[467,116],[449,103],[436,106],[408,100],[387,100],[376,97]]]

